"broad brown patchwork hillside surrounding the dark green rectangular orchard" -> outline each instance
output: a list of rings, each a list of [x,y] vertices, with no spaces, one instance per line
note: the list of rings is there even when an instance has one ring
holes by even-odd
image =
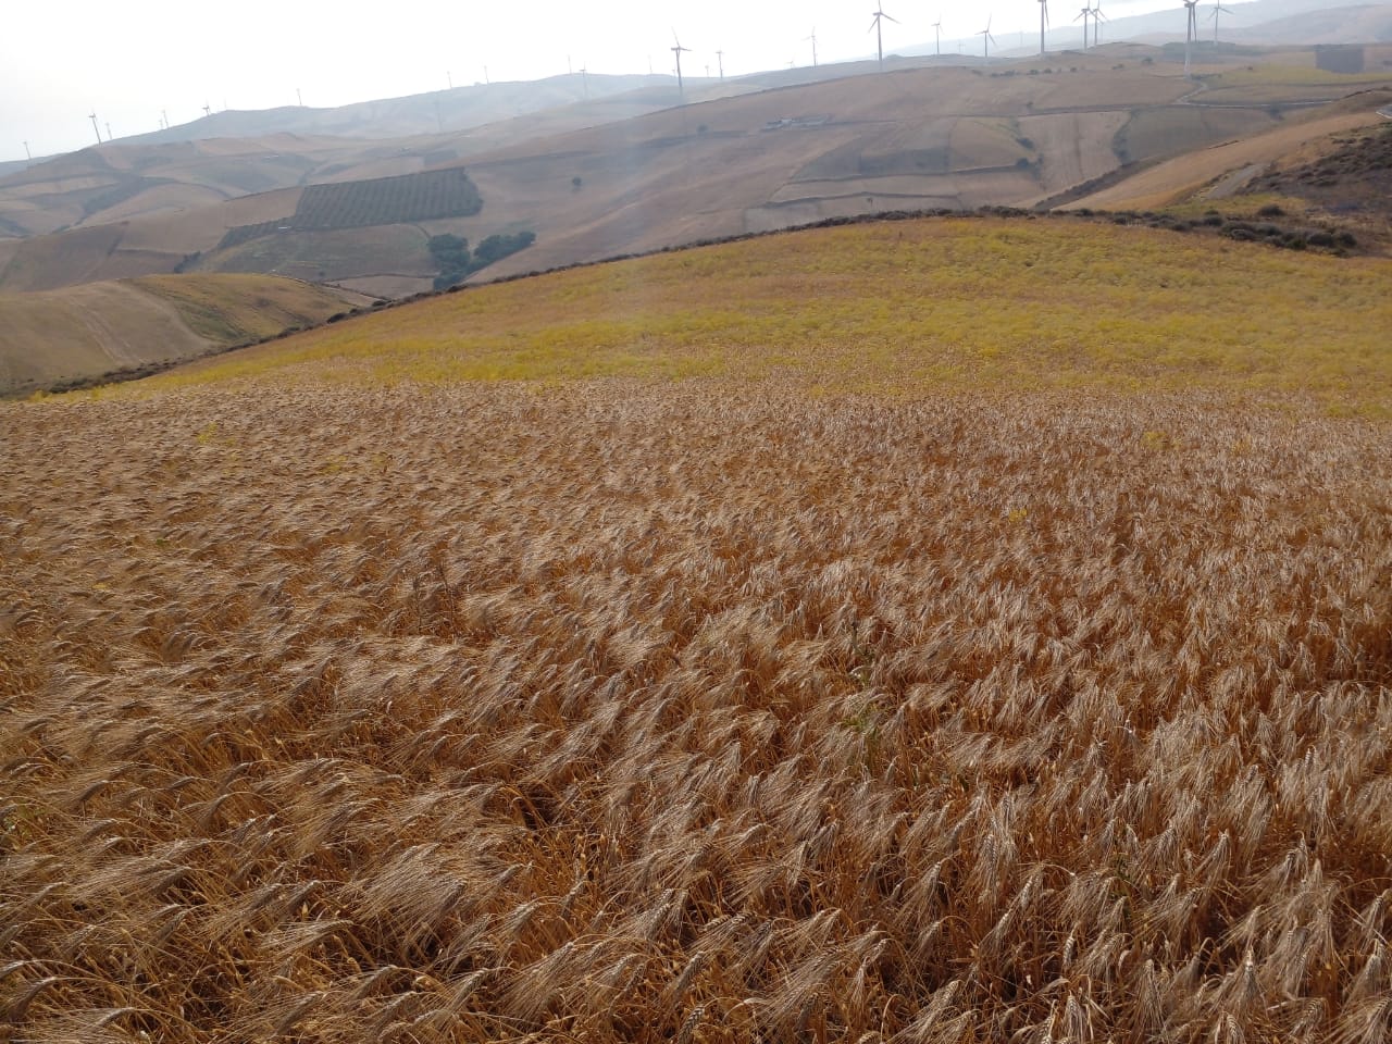
[[[484,200],[476,217],[329,239],[291,228],[252,258],[245,249],[219,251],[230,228],[291,224],[278,219],[298,206],[290,193],[303,189],[292,188],[29,239],[11,248],[0,287],[170,271],[196,253],[200,270],[291,271],[404,295],[432,283],[425,249],[432,234],[479,241],[535,231],[537,245],[497,269],[507,274],[885,209],[1031,205],[1123,161],[1250,134],[1276,118],[1271,103],[1186,104],[1190,88],[1176,68],[1154,58],[1147,64],[1148,57],[1070,56],[1066,67],[991,71],[906,68],[720,97],[568,134],[525,136],[512,128],[484,135],[491,150],[472,152],[462,164],[441,159],[427,171],[464,166]]]

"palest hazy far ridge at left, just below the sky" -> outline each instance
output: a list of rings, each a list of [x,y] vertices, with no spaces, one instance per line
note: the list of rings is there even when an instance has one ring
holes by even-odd
[[[667,77],[574,79],[561,88],[554,81],[497,84],[341,110],[217,113],[188,127],[10,164],[0,171],[0,238],[216,206],[283,188],[415,174],[677,102]],[[754,86],[735,81],[693,84],[689,97],[749,89]]]

